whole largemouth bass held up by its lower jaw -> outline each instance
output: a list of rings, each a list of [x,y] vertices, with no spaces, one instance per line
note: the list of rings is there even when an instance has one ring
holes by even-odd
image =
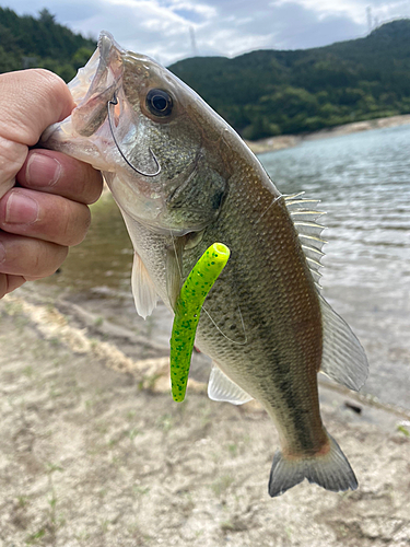
[[[285,196],[242,138],[197,93],[150,57],[102,32],[69,84],[71,115],[46,129],[43,147],[103,173],[134,255],[132,293],[147,317],[180,288],[214,242],[231,251],[209,292],[196,347],[212,359],[208,395],[257,399],[280,441],[268,491],[304,479],[330,491],[358,480],[327,432],[318,372],[360,389],[365,352],[320,294],[324,240],[317,200]]]

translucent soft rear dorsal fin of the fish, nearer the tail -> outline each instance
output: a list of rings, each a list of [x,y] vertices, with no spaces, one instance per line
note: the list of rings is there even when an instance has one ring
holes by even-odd
[[[358,392],[368,373],[364,349],[344,319],[323,296],[319,299],[324,333],[320,372]]]

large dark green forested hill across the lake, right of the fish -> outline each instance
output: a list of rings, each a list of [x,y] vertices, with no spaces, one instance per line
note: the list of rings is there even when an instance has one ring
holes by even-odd
[[[408,114],[410,20],[331,46],[196,57],[169,69],[248,139]]]

